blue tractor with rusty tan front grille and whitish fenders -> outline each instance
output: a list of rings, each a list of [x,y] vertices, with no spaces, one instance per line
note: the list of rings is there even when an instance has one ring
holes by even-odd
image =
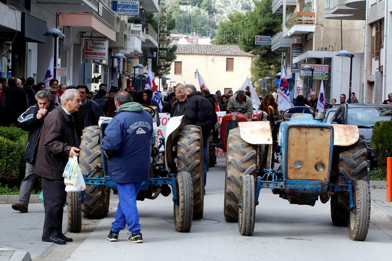
[[[303,110],[308,110],[308,107]],[[283,113],[273,122],[240,122],[227,141],[224,216],[251,236],[262,188],[290,204],[330,200],[332,223],[365,240],[370,220],[367,150],[357,126],[324,123],[308,113]],[[304,112],[304,111],[303,111]],[[275,138],[273,138],[275,137]],[[273,168],[274,151],[280,166]]]

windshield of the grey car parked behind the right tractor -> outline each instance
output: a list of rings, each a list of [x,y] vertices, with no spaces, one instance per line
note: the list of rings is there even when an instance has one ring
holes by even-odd
[[[392,119],[392,106],[391,108],[348,108],[347,110],[347,124],[356,125],[362,128],[373,128],[376,121],[391,120]]]

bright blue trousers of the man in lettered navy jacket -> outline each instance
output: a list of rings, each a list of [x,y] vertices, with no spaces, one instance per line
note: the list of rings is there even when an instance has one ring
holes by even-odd
[[[112,231],[120,232],[128,226],[132,234],[140,233],[140,217],[136,205],[136,195],[142,186],[142,182],[117,183],[119,192],[119,206],[117,207],[116,217],[112,223]]]

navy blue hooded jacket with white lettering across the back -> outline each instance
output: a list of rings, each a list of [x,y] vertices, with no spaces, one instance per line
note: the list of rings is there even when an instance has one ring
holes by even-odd
[[[148,180],[152,118],[136,102],[121,105],[108,124],[101,148],[109,155],[108,172],[117,183]]]

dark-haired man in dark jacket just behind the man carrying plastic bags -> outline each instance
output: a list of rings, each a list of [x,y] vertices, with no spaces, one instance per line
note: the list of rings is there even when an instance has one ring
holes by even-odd
[[[89,88],[86,85],[79,84],[77,90],[79,91],[82,105],[72,116],[76,124],[77,146],[79,146],[83,129],[88,126],[98,125],[98,119],[103,116],[103,113],[97,102],[87,98]]]

